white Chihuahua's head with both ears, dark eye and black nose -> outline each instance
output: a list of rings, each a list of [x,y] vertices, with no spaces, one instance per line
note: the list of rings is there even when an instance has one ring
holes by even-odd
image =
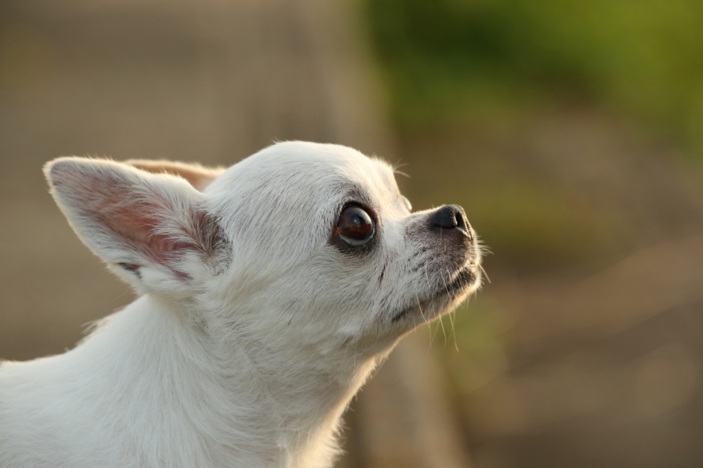
[[[113,271],[219,340],[372,356],[480,283],[461,207],[411,212],[388,164],[339,145],[226,170],[64,157],[46,176]]]

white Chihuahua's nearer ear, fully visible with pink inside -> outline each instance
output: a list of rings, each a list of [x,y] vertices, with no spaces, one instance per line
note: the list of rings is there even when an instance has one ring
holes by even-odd
[[[61,157],[44,173],[79,238],[138,290],[181,296],[224,268],[217,219],[183,178],[83,157]]]

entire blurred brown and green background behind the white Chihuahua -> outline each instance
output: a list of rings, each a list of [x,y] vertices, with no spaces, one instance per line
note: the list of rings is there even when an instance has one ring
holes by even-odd
[[[58,155],[406,164],[491,283],[352,405],[344,467],[703,466],[703,3],[4,0],[0,358],[131,293],[53,205]]]

